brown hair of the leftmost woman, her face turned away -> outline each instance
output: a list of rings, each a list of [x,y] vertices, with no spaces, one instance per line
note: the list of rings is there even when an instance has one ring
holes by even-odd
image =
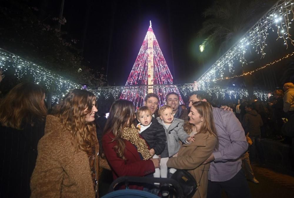
[[[22,82],[12,88],[0,103],[0,123],[2,126],[21,129],[23,124],[34,126],[44,122],[47,109],[43,96],[45,90],[37,84]]]

